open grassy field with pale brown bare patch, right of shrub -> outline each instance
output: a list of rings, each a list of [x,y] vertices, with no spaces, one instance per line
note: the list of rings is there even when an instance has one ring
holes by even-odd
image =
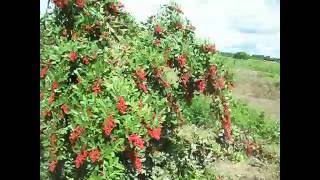
[[[261,60],[221,58],[234,73],[234,97],[252,108],[262,110],[271,119],[280,119],[280,64]]]

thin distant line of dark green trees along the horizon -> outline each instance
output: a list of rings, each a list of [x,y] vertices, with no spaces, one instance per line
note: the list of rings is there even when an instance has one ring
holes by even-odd
[[[226,57],[233,57],[236,59],[256,59],[256,60],[280,62],[280,58],[273,58],[270,56],[257,55],[257,54],[249,55],[245,52],[237,52],[237,53],[220,52],[220,54]]]

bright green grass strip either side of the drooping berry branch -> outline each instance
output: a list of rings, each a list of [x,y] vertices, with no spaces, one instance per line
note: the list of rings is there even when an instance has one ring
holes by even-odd
[[[210,99],[205,96],[199,96],[193,99],[191,107],[188,108],[186,117],[190,122],[205,128],[210,128],[219,133],[221,128],[220,120],[212,116],[210,109]],[[235,128],[235,135],[245,134],[263,141],[271,143],[279,143],[280,124],[279,121],[273,120],[265,116],[263,111],[253,109],[247,104],[233,100],[231,103],[232,126]]]

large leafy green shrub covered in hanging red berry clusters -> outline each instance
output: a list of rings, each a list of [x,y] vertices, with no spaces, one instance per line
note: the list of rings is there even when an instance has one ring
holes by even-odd
[[[200,94],[232,140],[229,78],[179,8],[140,26],[117,1],[65,2],[41,19],[42,179],[146,176],[150,148]]]

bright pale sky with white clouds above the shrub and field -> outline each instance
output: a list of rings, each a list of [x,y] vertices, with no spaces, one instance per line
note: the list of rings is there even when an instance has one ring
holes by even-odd
[[[47,0],[40,0],[40,16]],[[170,0],[122,0],[126,11],[144,21]],[[245,51],[280,57],[280,0],[175,0],[196,27],[224,52]]]

